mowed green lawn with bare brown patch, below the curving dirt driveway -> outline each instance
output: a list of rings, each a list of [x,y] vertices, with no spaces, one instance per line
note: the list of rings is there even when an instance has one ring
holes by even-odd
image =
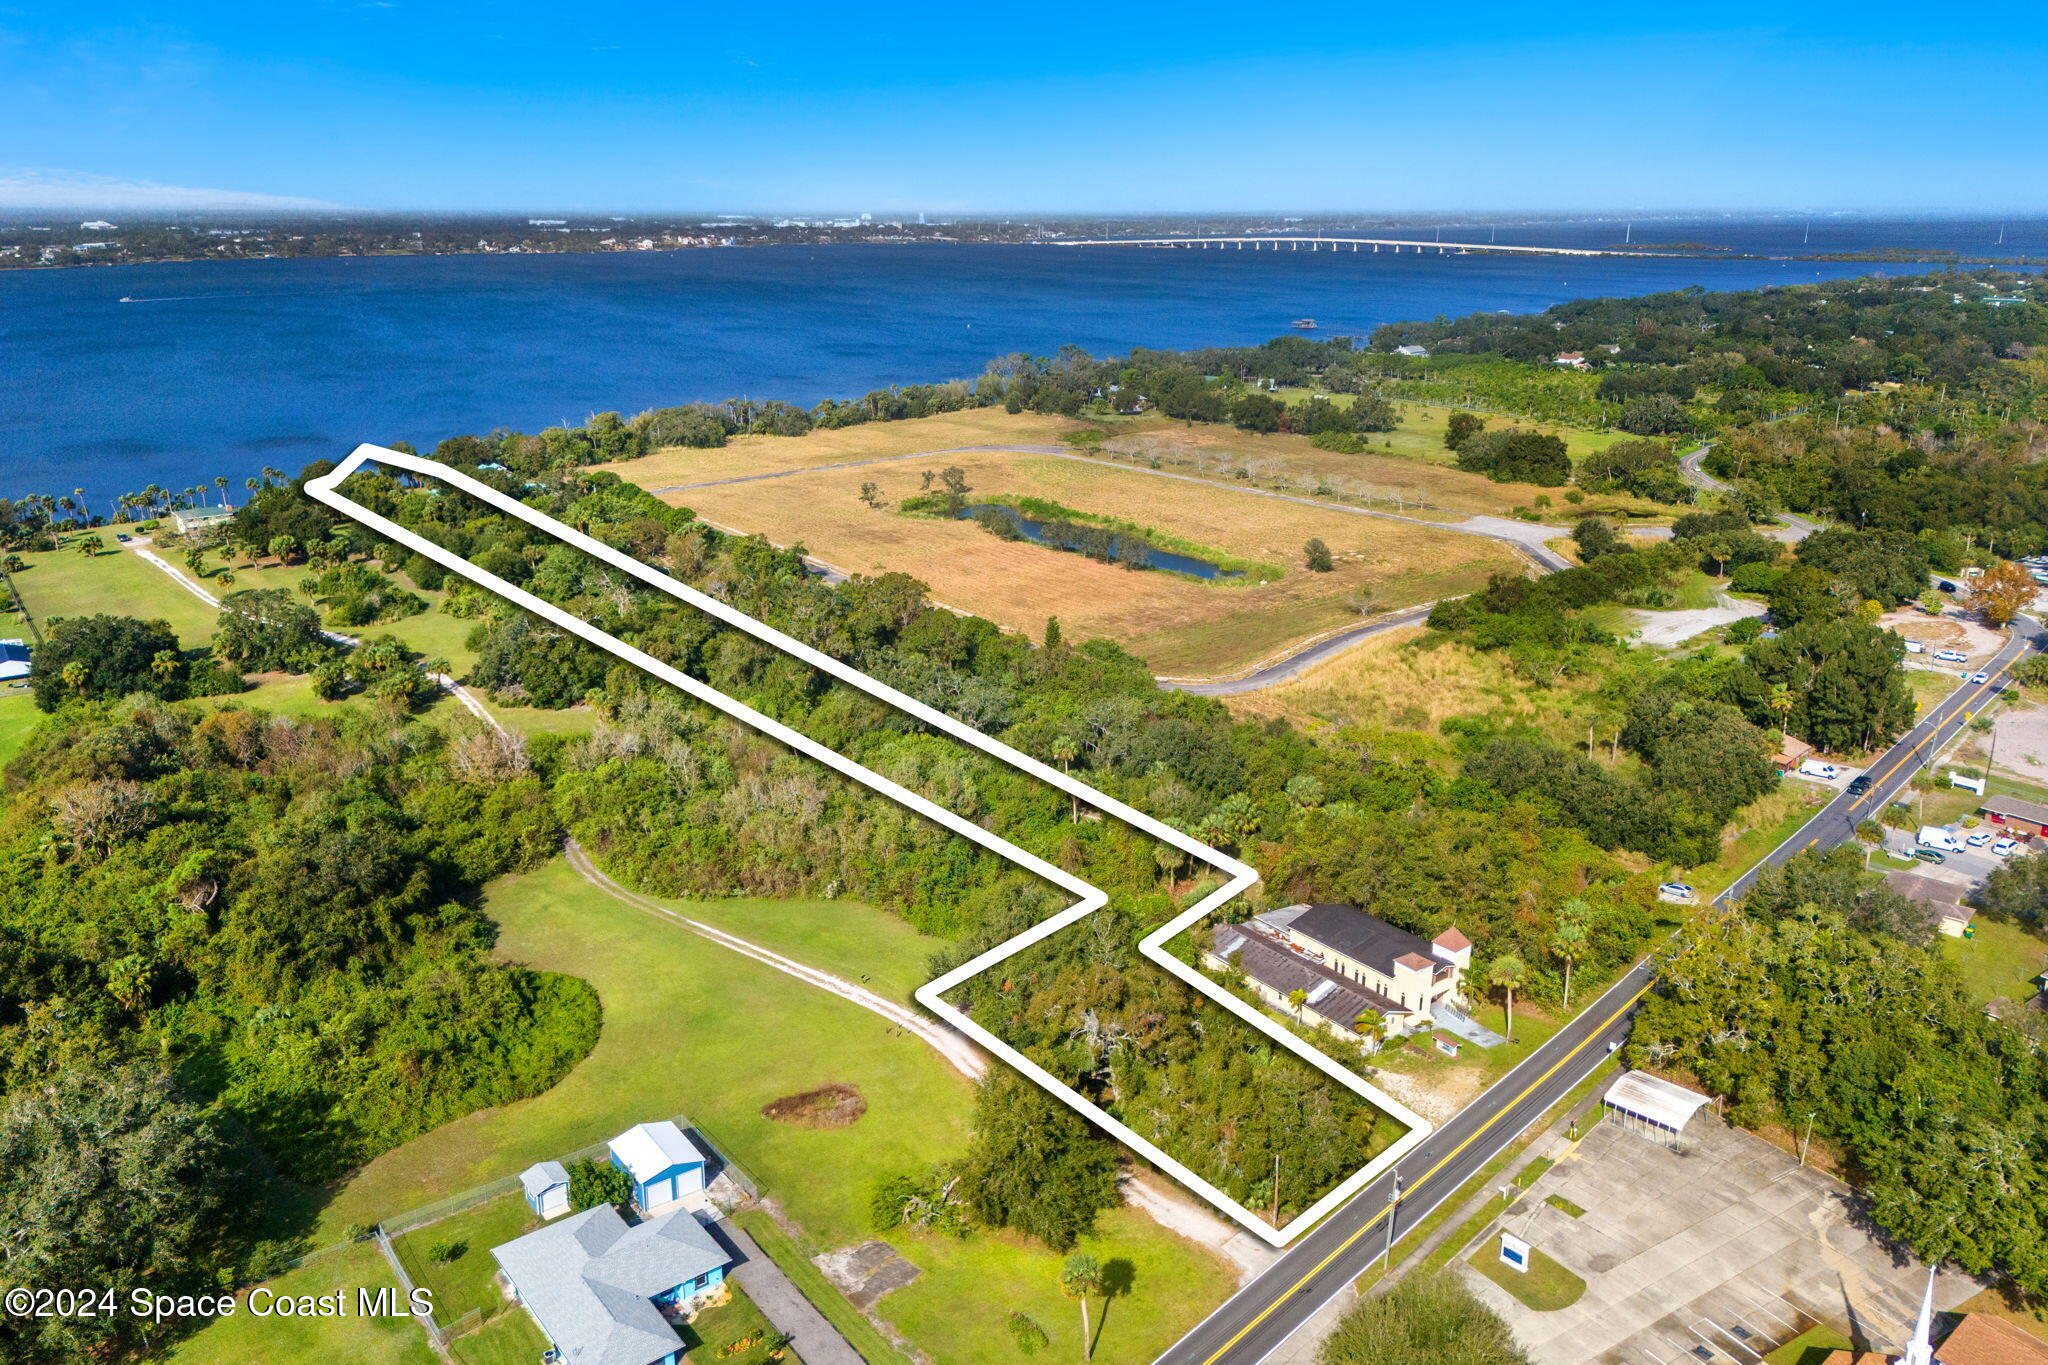
[[[971,1087],[930,1046],[610,898],[561,860],[496,882],[487,909],[502,958],[596,986],[596,1050],[553,1091],[371,1162],[324,1209],[317,1242],[680,1111],[838,1246],[864,1232],[877,1175],[944,1160],[967,1142]],[[868,1101],[852,1128],[821,1132],[760,1113],[834,1081],[858,1085]]]

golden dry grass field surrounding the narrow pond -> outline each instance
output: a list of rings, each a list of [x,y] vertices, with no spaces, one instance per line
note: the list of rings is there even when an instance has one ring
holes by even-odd
[[[944,426],[901,422],[858,428],[856,434],[874,442],[868,446],[872,452],[1004,440],[993,424],[977,432],[977,424],[961,417],[932,422]],[[1020,444],[1044,444],[1059,430],[1034,420],[1036,430],[1028,430],[1026,438],[1018,434],[1016,420],[1008,422],[1010,440]],[[1253,665],[1296,641],[1356,620],[1352,602],[1362,591],[1380,608],[1430,602],[1470,591],[1489,573],[1511,571],[1522,563],[1505,546],[1477,536],[1307,508],[1239,487],[1163,479],[1147,469],[1110,463],[981,452],[819,469],[817,465],[846,458],[874,458],[848,446],[848,432],[825,436],[838,440],[813,446],[813,438],[770,438],[768,452],[788,460],[782,467],[797,473],[664,491],[662,497],[688,505],[719,526],[758,532],[776,544],[803,544],[848,573],[909,573],[928,583],[938,602],[1032,636],[1042,632],[1049,616],[1059,616],[1069,639],[1114,639],[1163,675],[1217,675]],[[748,448],[762,452],[754,442]],[[768,473],[758,454],[754,473]],[[741,456],[745,450],[735,442],[725,450],[662,452],[616,469],[635,483],[662,489],[733,477],[725,471]],[[895,512],[901,499],[924,489],[926,471],[936,473],[948,465],[967,473],[971,499],[1044,497],[1239,559],[1284,565],[1286,571],[1274,581],[1204,583],[1171,573],[1118,569],[1030,542],[1006,542],[973,522]],[[862,483],[877,485],[885,508],[860,501]],[[1303,567],[1303,544],[1311,536],[1329,544],[1335,571],[1309,573]]]

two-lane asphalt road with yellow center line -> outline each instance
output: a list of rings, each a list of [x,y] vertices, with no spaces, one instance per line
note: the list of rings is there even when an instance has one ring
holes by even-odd
[[[1874,817],[1913,774],[1970,722],[2007,679],[2011,667],[2048,641],[2038,622],[2013,622],[2013,639],[1985,665],[1987,681],[1964,684],[1886,749],[1870,767],[1870,790],[1843,792],[1735,880],[1720,900],[1741,898],[1757,872],[1810,847],[1847,841],[1855,825]],[[1380,1177],[1356,1199],[1313,1228],[1264,1275],[1239,1289],[1159,1359],[1159,1365],[1255,1365],[1292,1336],[1323,1304],[1358,1279],[1399,1238],[1427,1218],[1464,1181],[1536,1121],[1571,1087],[1608,1056],[1608,1046],[1628,1036],[1636,1005],[1651,988],[1649,960],[1593,1001],[1577,1019],[1497,1081],[1485,1095],[1438,1128],[1395,1173]],[[1389,1228],[1389,1197],[1401,1181],[1401,1205]]]

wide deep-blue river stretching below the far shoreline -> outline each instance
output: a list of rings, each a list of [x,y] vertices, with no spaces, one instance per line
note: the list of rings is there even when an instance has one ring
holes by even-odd
[[[1636,239],[1675,231],[1645,225]],[[1573,225],[1569,235],[1616,231]],[[1929,246],[1958,241],[1948,233]],[[1098,354],[1245,344],[1284,334],[1294,317],[1315,317],[1317,336],[1362,336],[1438,313],[1868,270],[1032,246],[10,270],[0,272],[0,497],[84,487],[102,503],[215,475],[240,491],[266,465],[297,471],[360,440],[428,448],[494,426],[539,430],[739,395],[815,403],[973,377],[993,356],[1067,342]]]

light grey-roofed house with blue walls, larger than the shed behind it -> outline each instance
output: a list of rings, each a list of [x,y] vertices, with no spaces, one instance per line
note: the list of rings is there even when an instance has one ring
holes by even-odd
[[[600,1203],[494,1246],[498,1271],[563,1365],[678,1365],[678,1312],[731,1263],[688,1209],[627,1226]]]

